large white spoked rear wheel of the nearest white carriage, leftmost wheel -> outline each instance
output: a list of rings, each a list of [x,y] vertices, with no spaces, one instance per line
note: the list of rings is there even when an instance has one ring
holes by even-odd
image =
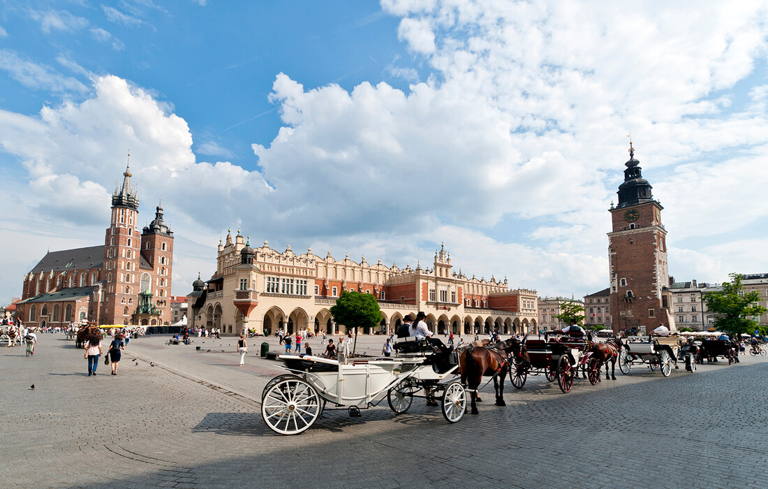
[[[273,385],[261,402],[261,416],[270,430],[280,434],[300,434],[320,414],[320,396],[300,378],[285,379]]]

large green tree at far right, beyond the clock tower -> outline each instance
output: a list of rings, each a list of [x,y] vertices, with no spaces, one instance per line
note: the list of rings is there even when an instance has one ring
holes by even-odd
[[[760,294],[757,291],[744,292],[741,283],[743,275],[730,274],[730,282],[723,282],[723,290],[707,292],[704,301],[707,308],[717,313],[714,327],[731,335],[742,333],[753,334],[757,321],[752,318],[766,311],[757,305]]]

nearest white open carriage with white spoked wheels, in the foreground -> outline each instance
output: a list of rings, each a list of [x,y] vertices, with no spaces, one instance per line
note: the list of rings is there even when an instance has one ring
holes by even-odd
[[[278,375],[264,388],[261,415],[272,431],[299,434],[331,403],[359,416],[386,393],[389,408],[405,413],[413,398],[438,398],[446,421],[462,419],[467,391],[456,376],[458,355],[442,344],[403,338],[396,357],[349,358],[346,362],[312,355],[280,355],[290,373]],[[424,391],[424,395],[418,395]],[[378,401],[376,399],[379,398]]]

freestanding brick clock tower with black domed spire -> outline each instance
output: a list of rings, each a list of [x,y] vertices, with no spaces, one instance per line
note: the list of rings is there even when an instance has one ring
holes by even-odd
[[[608,233],[608,262],[611,273],[611,318],[614,331],[646,334],[660,323],[675,329],[669,314],[667,231],[661,224],[664,209],[654,200],[651,186],[641,175],[640,161],[624,165],[624,182],[617,191],[618,204],[611,205],[612,231]]]

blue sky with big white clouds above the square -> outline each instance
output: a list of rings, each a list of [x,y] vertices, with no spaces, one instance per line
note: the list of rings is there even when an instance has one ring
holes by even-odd
[[[231,229],[399,267],[445,244],[581,298],[629,134],[670,275],[766,273],[766,48],[748,0],[0,0],[0,304],[48,249],[104,242],[129,151],[174,295]]]

